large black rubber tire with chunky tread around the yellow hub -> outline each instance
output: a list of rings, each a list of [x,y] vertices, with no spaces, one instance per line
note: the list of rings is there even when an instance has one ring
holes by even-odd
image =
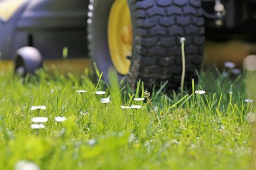
[[[103,79],[113,67],[107,45],[107,20],[113,1],[94,0],[90,4],[89,50]],[[204,47],[204,20],[200,0],[128,0],[132,18],[133,47],[131,66],[126,75],[134,87],[139,79],[146,87],[169,81],[169,89],[181,85],[181,42],[186,38],[185,85],[197,81]],[[119,75],[122,79],[122,75]]]

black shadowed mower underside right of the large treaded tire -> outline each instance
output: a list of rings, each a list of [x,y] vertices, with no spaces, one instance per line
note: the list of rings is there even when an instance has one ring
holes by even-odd
[[[241,38],[256,42],[256,0],[202,0],[206,40]]]

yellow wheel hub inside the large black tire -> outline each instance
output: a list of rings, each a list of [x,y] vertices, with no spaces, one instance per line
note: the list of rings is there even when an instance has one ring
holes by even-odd
[[[108,26],[107,39],[110,56],[119,74],[129,72],[132,55],[132,21],[126,0],[115,0],[112,5]]]

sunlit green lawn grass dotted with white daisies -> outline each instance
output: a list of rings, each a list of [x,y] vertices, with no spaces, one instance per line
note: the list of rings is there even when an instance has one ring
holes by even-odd
[[[149,101],[137,91],[116,90],[86,76],[40,71],[14,77],[0,71],[0,169],[26,160],[41,169],[249,169],[252,132],[246,121],[245,77],[201,72],[195,90],[184,96],[151,91]],[[229,74],[229,73],[228,73]],[[87,90],[78,94],[78,89]],[[95,91],[106,91],[98,96]],[[233,93],[230,94],[230,91]],[[110,96],[110,103],[100,103]],[[142,105],[139,109],[120,106]],[[31,111],[31,106],[46,110]],[[31,118],[48,117],[46,128],[31,129]],[[55,122],[56,116],[67,118]]]

